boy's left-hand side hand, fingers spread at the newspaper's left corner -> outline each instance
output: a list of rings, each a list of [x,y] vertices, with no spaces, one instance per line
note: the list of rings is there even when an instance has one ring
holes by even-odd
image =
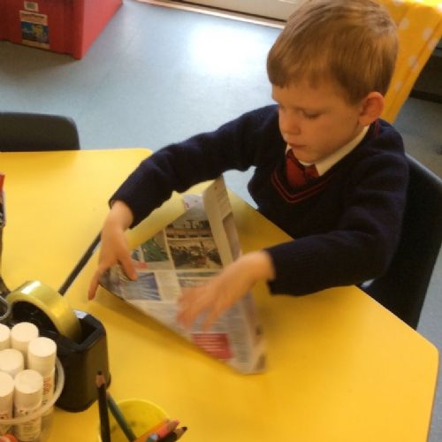
[[[131,258],[131,251],[125,235],[127,227],[129,227],[132,222],[132,211],[126,204],[120,201],[114,202],[108,217],[104,221],[98,268],[89,284],[89,300],[94,299],[100,277],[112,265],[117,263],[121,264],[128,278],[133,280],[137,278],[137,273]]]

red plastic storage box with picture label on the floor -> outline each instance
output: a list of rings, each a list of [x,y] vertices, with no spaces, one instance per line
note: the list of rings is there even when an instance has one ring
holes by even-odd
[[[1,3],[7,23],[6,36],[0,30],[0,37],[81,58],[123,2],[1,0]]]

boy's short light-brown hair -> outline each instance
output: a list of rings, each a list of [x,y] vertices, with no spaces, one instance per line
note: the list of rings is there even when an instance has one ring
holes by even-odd
[[[285,88],[331,80],[349,103],[385,95],[398,52],[396,26],[372,0],[303,0],[267,57],[269,80]]]

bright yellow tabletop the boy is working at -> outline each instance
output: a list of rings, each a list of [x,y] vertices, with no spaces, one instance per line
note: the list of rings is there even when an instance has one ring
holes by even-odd
[[[107,199],[146,149],[2,153],[7,225],[3,275],[14,288],[58,288],[99,231]],[[244,251],[286,235],[232,195]],[[175,195],[131,238],[152,235],[180,211]],[[255,235],[255,232],[260,232]],[[269,369],[244,376],[103,289],[87,301],[96,254],[66,293],[108,332],[110,392],[141,397],[179,418],[189,442],[420,442],[427,440],[438,351],[355,287],[305,297],[255,291]],[[50,442],[95,442],[94,404],[57,410]]]

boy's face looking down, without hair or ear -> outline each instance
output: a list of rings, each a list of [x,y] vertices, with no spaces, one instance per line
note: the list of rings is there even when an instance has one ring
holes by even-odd
[[[361,133],[361,103],[349,104],[336,88],[323,82],[317,88],[309,83],[287,88],[272,86],[272,97],[279,105],[279,129],[293,154],[305,163],[316,163]]]

